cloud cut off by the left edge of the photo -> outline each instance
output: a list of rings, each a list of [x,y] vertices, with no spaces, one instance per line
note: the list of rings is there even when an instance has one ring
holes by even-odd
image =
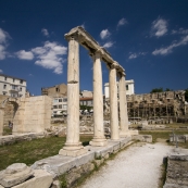
[[[10,35],[0,28],[0,60],[5,59],[5,49],[8,46],[8,38],[11,38]]]

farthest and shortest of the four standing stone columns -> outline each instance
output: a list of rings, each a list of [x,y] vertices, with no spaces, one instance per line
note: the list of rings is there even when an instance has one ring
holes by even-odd
[[[126,82],[125,73],[120,73],[118,82],[118,96],[120,96],[120,127],[121,137],[126,137],[128,135],[128,115],[127,115],[127,101],[126,101]]]

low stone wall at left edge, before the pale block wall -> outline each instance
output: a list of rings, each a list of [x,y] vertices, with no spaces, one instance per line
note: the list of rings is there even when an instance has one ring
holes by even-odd
[[[45,136],[46,136],[45,133],[29,133],[29,134],[0,136],[0,146],[12,145],[14,142],[33,140],[37,138],[43,138]]]

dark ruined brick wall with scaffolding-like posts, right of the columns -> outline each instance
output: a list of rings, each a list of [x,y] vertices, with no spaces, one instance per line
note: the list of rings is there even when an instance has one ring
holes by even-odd
[[[129,117],[185,116],[185,91],[166,91],[127,96]]]

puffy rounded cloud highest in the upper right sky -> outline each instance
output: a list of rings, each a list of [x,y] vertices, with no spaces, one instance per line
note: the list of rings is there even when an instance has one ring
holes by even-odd
[[[151,33],[156,37],[162,37],[163,35],[165,35],[167,33],[167,21],[163,18],[153,21]]]

